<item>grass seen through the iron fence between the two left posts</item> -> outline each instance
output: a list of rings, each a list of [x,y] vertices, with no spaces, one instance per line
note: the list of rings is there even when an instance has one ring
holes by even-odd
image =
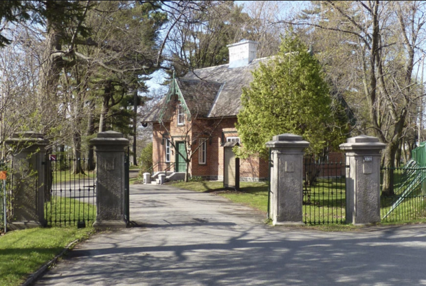
[[[92,201],[93,199],[91,199]],[[45,203],[45,218],[52,225],[77,225],[78,221],[85,221],[91,225],[96,219],[96,206],[83,203],[78,199],[52,197],[52,202]]]

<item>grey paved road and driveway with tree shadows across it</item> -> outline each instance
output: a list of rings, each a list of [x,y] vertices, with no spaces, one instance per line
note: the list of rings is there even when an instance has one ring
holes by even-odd
[[[204,193],[133,186],[141,228],[98,234],[36,285],[426,285],[426,225],[318,232]]]

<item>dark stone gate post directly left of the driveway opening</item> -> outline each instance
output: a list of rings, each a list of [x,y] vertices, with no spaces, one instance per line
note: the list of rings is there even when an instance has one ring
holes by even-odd
[[[124,148],[128,140],[115,131],[98,133],[90,140],[96,151],[96,228],[126,228],[124,214]]]

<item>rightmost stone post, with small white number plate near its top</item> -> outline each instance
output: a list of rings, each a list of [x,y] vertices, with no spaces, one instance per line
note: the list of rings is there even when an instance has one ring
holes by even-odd
[[[380,222],[380,151],[386,144],[360,135],[340,144],[346,154],[346,223]]]

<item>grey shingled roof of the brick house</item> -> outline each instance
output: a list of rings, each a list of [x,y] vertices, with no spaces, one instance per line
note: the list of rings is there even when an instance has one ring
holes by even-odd
[[[267,59],[256,58],[249,65],[232,69],[229,65],[195,69],[176,79],[176,83],[191,114],[207,118],[236,116],[241,109],[242,88],[249,87],[253,80],[251,72]],[[158,121],[164,102],[160,100],[142,122]]]

